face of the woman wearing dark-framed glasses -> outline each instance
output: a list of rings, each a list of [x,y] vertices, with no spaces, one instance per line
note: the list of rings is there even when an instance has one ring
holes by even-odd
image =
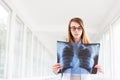
[[[71,22],[70,24],[70,31],[74,39],[78,40],[81,38],[82,35],[82,27],[76,23],[76,22]]]

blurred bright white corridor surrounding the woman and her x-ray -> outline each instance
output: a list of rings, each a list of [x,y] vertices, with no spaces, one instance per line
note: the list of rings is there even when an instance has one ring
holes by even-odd
[[[56,42],[73,17],[101,44],[104,74],[92,79],[120,80],[120,0],[0,0],[0,80],[59,80]]]

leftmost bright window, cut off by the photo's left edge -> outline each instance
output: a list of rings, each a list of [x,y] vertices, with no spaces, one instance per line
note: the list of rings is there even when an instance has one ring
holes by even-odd
[[[0,78],[6,76],[9,19],[10,11],[0,4]]]

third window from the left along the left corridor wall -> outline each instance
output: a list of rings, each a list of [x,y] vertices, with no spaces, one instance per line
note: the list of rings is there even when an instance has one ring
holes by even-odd
[[[32,65],[32,32],[29,28],[26,29],[26,53],[25,53],[25,76],[31,76]]]

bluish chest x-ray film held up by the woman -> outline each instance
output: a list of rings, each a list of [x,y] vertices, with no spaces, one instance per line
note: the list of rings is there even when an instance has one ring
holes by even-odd
[[[98,63],[100,44],[75,44],[57,41],[57,62],[62,73],[96,74],[94,66]]]

